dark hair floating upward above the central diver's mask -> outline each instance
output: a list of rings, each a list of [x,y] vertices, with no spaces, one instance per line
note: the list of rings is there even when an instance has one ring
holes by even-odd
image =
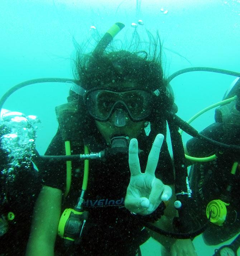
[[[162,44],[159,34],[154,37],[147,31],[149,42],[141,42],[133,33],[127,49],[116,51],[112,43],[101,55],[84,54],[77,45],[75,78],[86,90],[114,83],[133,82],[139,89],[158,91],[165,105],[172,105],[173,95],[168,91],[162,68]],[[148,48],[148,52],[140,48]],[[126,47],[125,47],[126,48]],[[169,102],[166,102],[169,101]]]

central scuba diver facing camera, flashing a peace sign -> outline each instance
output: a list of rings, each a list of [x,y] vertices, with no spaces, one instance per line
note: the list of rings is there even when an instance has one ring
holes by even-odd
[[[135,256],[151,235],[163,245],[162,255],[196,256],[191,239],[209,226],[213,210],[203,221],[193,215],[187,165],[194,157],[184,155],[179,128],[210,143],[218,156],[219,148],[235,153],[240,148],[208,138],[177,117],[169,83],[191,71],[240,74],[190,68],[165,79],[159,35],[153,42],[150,36],[149,52],[139,51],[139,42],[134,52],[108,51],[123,27],[114,24],[90,54],[80,49],[76,79],[26,81],[0,100],[2,108],[9,95],[30,84],[72,84],[68,102],[56,107],[59,127],[45,155],[34,151],[43,186],[27,255]]]

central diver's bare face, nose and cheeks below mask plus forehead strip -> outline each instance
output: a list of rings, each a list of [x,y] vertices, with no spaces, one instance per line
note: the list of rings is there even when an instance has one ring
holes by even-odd
[[[118,88],[124,91],[136,88],[136,85],[126,82],[119,85]],[[97,120],[95,122],[99,132],[109,145],[111,144],[111,138],[115,136],[127,136],[129,139],[138,137],[144,129],[145,123],[145,121],[133,122],[124,109],[117,109],[106,122]]]

